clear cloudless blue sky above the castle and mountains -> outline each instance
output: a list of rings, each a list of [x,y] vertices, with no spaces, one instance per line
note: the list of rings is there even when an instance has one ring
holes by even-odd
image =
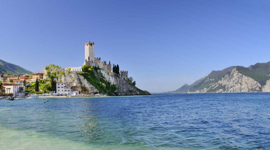
[[[150,92],[268,62],[269,1],[1,1],[0,59],[78,67],[84,43]]]

